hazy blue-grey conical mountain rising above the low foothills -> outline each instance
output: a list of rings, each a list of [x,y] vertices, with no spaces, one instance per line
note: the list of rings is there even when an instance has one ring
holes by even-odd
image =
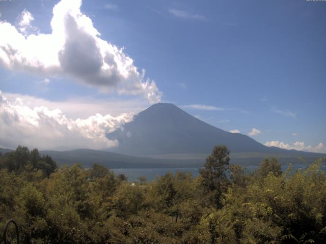
[[[170,103],[150,106],[107,138],[117,139],[114,151],[127,155],[208,154],[216,144],[226,145],[232,153],[283,151],[213,127]]]

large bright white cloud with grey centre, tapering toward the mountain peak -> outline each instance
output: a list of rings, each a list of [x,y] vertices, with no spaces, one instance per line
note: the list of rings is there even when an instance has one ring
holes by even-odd
[[[159,102],[162,93],[139,72],[123,48],[103,40],[92,20],[80,12],[81,0],[62,0],[53,8],[50,34],[26,34],[33,15],[23,11],[16,28],[0,21],[0,64],[45,77],[61,75],[120,95]]]

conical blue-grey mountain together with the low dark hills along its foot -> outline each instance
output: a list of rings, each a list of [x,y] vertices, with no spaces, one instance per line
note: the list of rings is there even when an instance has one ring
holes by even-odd
[[[75,149],[41,150],[59,165],[100,163],[108,168],[187,168],[201,167],[213,146],[226,145],[231,163],[257,165],[265,157],[277,157],[282,164],[311,163],[326,154],[267,147],[239,133],[213,127],[173,104],[158,103],[140,112],[123,129],[107,134],[119,146],[110,151]],[[30,148],[31,149],[31,148]],[[11,149],[0,148],[5,154]]]

